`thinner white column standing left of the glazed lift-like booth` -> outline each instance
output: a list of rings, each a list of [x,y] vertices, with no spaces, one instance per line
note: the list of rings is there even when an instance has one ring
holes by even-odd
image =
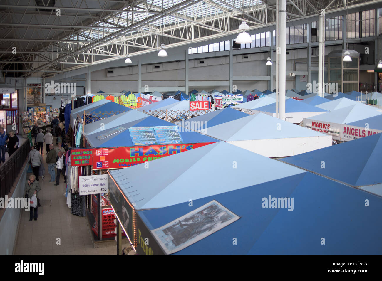
[[[322,9],[318,17],[318,83],[319,96],[324,97],[325,79],[325,10]]]

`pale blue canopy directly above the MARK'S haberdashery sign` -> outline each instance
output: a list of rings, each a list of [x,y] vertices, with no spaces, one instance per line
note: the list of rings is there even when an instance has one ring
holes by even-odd
[[[361,103],[309,117],[311,120],[349,124],[358,120],[380,115],[373,107]]]

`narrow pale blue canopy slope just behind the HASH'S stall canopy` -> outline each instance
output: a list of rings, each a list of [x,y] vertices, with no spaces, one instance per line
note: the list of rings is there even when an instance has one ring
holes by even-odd
[[[86,126],[84,126],[84,133],[88,135],[94,134],[96,132],[109,130],[135,120],[146,118],[147,116],[149,115],[147,115],[146,113],[142,113],[141,111],[129,110],[118,115],[114,115],[99,121],[95,121],[90,124],[86,124]]]

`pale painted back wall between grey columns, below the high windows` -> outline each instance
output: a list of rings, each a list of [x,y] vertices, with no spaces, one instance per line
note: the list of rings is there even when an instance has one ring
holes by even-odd
[[[325,48],[327,55],[337,46],[328,46]],[[248,49],[248,52],[251,52]],[[286,55],[286,89],[295,87],[295,77],[290,77],[289,73],[293,71],[306,71],[307,51],[306,49],[288,50]],[[248,54],[247,59],[244,55],[233,57],[233,76],[268,76],[268,66],[265,66],[268,53]],[[316,66],[317,57],[312,57],[312,66]],[[200,63],[204,61],[204,63]],[[295,62],[296,67],[295,67]],[[189,61],[189,81],[228,81],[228,57],[215,57]],[[154,65],[159,68],[154,68]],[[184,87],[185,86],[185,63],[184,61],[175,61],[170,63],[157,63],[152,65],[142,65],[142,87],[147,85],[149,91],[155,90],[155,87]],[[110,68],[109,68],[110,69]],[[275,71],[275,67],[274,67]],[[91,92],[96,93],[103,90],[106,93],[119,93],[122,90],[138,91],[138,66],[126,66],[115,68],[114,74],[107,75],[107,69],[94,71],[91,73]],[[312,81],[317,80],[315,70],[312,70]],[[275,81],[275,73],[273,73]],[[316,74],[317,75],[317,74]],[[268,81],[233,81],[239,90],[265,90],[268,89]],[[305,86],[305,88],[303,87]],[[228,86],[190,86],[189,90],[228,90]],[[306,89],[306,85],[296,83],[298,90]],[[273,90],[273,89],[270,89]]]

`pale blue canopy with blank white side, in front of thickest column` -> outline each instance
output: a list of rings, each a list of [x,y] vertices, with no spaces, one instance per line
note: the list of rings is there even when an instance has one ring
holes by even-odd
[[[332,145],[331,136],[264,113],[209,127],[207,136],[266,157],[286,157]]]

